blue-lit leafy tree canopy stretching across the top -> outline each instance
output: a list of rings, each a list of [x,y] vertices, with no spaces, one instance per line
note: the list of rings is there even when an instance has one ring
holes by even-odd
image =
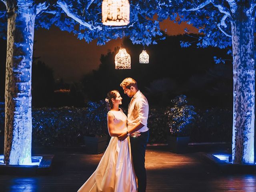
[[[228,3],[231,1],[130,0],[129,2],[130,24],[124,27],[124,33],[134,44],[156,44],[155,37],[162,35],[159,23],[168,18],[179,24],[185,21],[198,28],[202,34],[194,41],[198,47],[226,48],[232,45],[229,35],[231,34],[231,17],[227,14],[231,11]],[[232,2],[238,3],[237,0]],[[34,0],[34,4],[44,5],[36,17],[36,29],[49,29],[50,26],[55,25],[61,30],[72,32],[86,42],[97,39],[98,45],[122,36],[121,27],[102,25],[102,0]],[[220,26],[223,30],[220,30]],[[6,8],[4,4],[0,9],[0,29],[0,36],[5,37]],[[185,30],[185,33],[188,31]],[[184,47],[190,44],[181,42]],[[228,54],[230,53],[229,51]]]

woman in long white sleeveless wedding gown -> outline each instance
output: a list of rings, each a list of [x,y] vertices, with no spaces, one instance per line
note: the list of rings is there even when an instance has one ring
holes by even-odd
[[[78,192],[136,192],[136,176],[132,166],[130,138],[119,141],[118,136],[127,132],[127,116],[119,105],[122,97],[117,90],[108,92],[108,132],[111,136],[108,148],[95,172]],[[140,136],[138,132],[133,134]]]

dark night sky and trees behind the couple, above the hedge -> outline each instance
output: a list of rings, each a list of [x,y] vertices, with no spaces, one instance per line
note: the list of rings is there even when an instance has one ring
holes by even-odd
[[[197,37],[198,35],[192,34]],[[133,45],[128,39],[124,46],[131,56],[131,70],[115,70],[114,52],[100,57],[98,70],[92,70],[78,82],[54,79],[54,70],[40,57],[32,64],[32,106],[86,106],[88,100],[98,101],[108,91],[117,89],[128,105],[129,99],[119,84],[126,77],[138,82],[139,89],[147,96],[150,106],[167,106],[176,95],[185,94],[198,108],[232,108],[232,64],[228,50],[197,48],[195,44],[181,48],[180,41],[194,41],[187,35],[166,36],[166,40],[146,47],[149,64],[139,64],[141,45]],[[0,101],[4,101],[6,40],[0,40]],[[50,51],[50,50],[49,50]],[[213,57],[228,59],[225,64],[215,64]],[[72,63],[70,63],[72,65]],[[78,69],[79,70],[79,69]],[[69,92],[58,92],[60,89]],[[56,91],[57,90],[57,91]],[[55,92],[54,92],[55,91]]]

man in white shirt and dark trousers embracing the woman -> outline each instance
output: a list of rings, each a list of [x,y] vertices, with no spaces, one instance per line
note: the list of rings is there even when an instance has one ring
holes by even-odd
[[[132,99],[128,106],[128,131],[118,136],[118,140],[124,140],[130,136],[132,160],[135,174],[138,178],[138,192],[145,192],[147,183],[145,152],[149,138],[147,127],[148,100],[138,90],[137,82],[134,79],[126,78],[120,86],[123,88],[124,94],[127,94]]]

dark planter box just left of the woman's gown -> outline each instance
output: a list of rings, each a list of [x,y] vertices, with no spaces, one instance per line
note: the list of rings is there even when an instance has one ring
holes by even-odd
[[[86,152],[90,154],[100,154],[106,149],[108,142],[108,136],[104,137],[89,137],[84,136],[84,144],[86,146]]]

